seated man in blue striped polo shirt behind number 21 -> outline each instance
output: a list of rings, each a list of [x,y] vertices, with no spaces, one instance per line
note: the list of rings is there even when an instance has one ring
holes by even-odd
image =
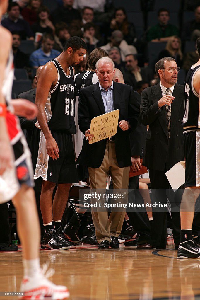
[[[52,49],[54,46],[54,38],[50,34],[43,35],[42,46],[30,55],[29,64],[33,68],[46,64],[47,61],[60,55],[60,52]]]

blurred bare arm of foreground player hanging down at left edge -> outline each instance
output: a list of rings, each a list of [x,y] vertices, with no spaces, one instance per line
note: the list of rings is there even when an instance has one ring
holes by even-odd
[[[0,47],[0,175],[2,175],[7,167],[12,166],[12,152],[4,113],[6,102],[2,93],[6,63],[12,47],[12,37],[10,32],[3,27],[0,28],[0,35],[4,41],[4,45]]]

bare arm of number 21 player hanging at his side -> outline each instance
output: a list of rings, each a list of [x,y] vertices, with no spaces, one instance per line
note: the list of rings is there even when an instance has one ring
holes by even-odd
[[[38,109],[37,121],[46,139],[46,151],[52,159],[59,157],[59,149],[56,141],[52,137],[46,120],[45,105],[49,91],[55,86],[58,80],[57,69],[53,63],[48,62],[40,72],[40,79],[37,83],[35,104]]]

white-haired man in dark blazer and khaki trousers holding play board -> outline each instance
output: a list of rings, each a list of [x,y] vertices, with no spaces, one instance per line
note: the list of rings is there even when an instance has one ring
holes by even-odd
[[[115,65],[111,58],[97,61],[96,74],[99,82],[79,91],[78,122],[85,134],[82,146],[82,164],[88,167],[91,189],[106,189],[106,179],[111,176],[113,187],[127,189],[131,165],[129,128],[138,125],[140,96],[131,86],[113,82]],[[109,139],[89,144],[91,119],[119,109],[117,134]],[[112,211],[108,219],[106,211],[92,211],[99,248],[118,248],[118,235],[125,211]]]

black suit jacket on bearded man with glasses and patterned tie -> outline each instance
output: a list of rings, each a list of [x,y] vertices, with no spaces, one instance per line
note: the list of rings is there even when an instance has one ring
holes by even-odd
[[[149,124],[143,164],[149,169],[168,171],[177,162],[184,160],[181,121],[184,113],[184,86],[175,84],[172,103],[170,138],[168,138],[166,110],[158,108],[162,97],[160,83],[142,91],[140,118]]]

